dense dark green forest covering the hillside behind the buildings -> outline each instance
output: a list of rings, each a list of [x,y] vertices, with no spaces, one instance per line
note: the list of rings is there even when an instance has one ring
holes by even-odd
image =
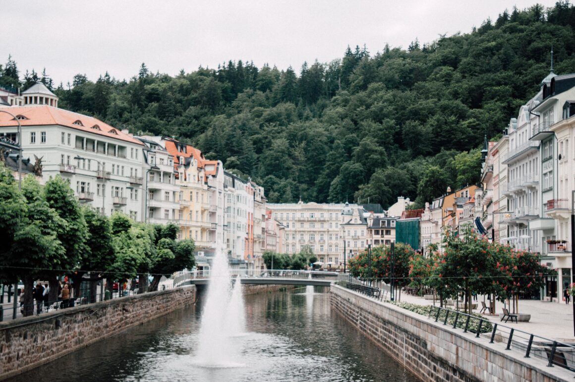
[[[505,10],[470,33],[407,49],[348,48],[329,63],[258,68],[230,60],[175,77],[142,64],[129,81],[0,67],[0,86],[41,81],[59,106],[133,133],[173,136],[266,188],[268,200],[416,206],[478,181],[484,135],[497,139],[549,73],[575,71],[575,7]],[[406,31],[406,33],[409,33]],[[105,70],[105,68],[102,68]],[[49,71],[49,68],[48,68]]]

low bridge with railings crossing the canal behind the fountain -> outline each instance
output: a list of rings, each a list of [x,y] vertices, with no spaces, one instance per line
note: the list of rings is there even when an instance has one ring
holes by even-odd
[[[314,287],[329,287],[338,278],[347,278],[339,272],[308,271],[308,270],[269,270],[259,271],[258,274],[244,272],[233,274],[235,279],[240,276],[241,284],[259,285],[313,285]],[[207,285],[210,281],[209,271],[203,272],[179,272],[174,278],[174,287],[181,285]]]

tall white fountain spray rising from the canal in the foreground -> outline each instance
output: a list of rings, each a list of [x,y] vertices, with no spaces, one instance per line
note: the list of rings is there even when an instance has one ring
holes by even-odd
[[[196,363],[208,368],[243,366],[238,335],[245,331],[245,312],[239,277],[231,293],[231,274],[225,251],[216,249],[203,307]]]

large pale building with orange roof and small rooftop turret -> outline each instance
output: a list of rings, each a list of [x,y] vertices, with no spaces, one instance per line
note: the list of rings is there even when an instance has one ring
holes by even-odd
[[[24,158],[41,159],[42,177],[70,181],[83,204],[103,211],[142,216],[141,194],[128,198],[145,169],[142,142],[93,117],[59,109],[57,97],[42,84],[22,93],[24,105],[2,108],[0,136],[18,142],[22,128]],[[37,102],[27,104],[26,102]],[[139,174],[134,177],[133,174]],[[131,177],[132,174],[132,177]]]

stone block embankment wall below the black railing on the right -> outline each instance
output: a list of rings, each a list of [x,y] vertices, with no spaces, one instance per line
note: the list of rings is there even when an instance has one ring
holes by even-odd
[[[334,285],[331,307],[423,381],[572,381],[567,369],[548,368],[501,343],[443,326],[392,304]]]

